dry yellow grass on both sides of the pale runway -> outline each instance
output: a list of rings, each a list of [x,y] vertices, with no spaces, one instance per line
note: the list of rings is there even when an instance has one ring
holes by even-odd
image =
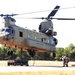
[[[72,66],[75,62],[69,62],[69,66]],[[32,66],[62,66],[62,61],[29,61],[29,65]],[[1,61],[0,66],[7,66],[7,61]],[[28,72],[0,72],[0,75],[75,75],[75,70],[57,70],[57,71],[28,71]]]

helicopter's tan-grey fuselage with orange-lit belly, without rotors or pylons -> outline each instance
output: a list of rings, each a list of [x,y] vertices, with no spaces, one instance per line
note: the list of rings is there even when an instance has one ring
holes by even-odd
[[[27,50],[35,50],[36,52],[55,52],[53,36],[49,37],[44,33],[24,29],[16,25],[6,27],[4,32],[8,33],[0,35],[0,43],[6,47]],[[49,40],[51,38],[51,40]]]

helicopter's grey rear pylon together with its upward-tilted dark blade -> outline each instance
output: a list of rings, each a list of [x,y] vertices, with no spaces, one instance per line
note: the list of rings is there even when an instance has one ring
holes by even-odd
[[[46,33],[48,29],[50,29],[53,32],[53,23],[51,21],[51,18],[56,14],[59,8],[60,6],[56,6],[46,18],[43,18],[46,20],[40,23],[39,32]]]

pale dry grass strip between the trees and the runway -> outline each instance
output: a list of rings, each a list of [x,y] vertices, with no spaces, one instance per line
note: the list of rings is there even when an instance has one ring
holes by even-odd
[[[7,66],[6,61],[0,61],[0,66]],[[62,61],[44,61],[44,60],[29,60],[29,66],[63,66]],[[69,66],[75,65],[75,62],[69,62]]]

